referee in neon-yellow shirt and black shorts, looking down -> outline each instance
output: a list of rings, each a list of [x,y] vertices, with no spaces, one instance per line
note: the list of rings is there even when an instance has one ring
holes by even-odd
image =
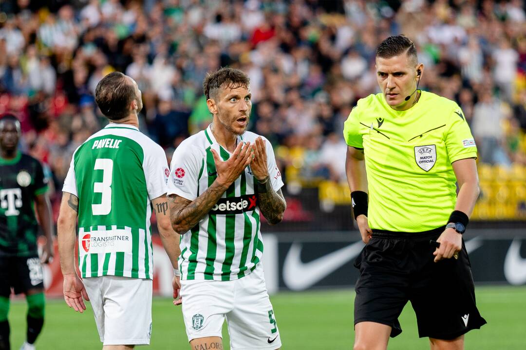
[[[486,323],[462,240],[479,195],[477,147],[457,103],[418,90],[424,67],[409,38],[383,40],[376,69],[382,93],[359,100],[343,131],[367,243],[355,262],[354,349],[386,349],[408,301],[432,350],[463,349],[463,334]],[[367,188],[357,176],[364,163]]]

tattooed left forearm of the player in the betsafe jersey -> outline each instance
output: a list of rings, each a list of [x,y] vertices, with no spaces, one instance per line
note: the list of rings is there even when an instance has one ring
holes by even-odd
[[[217,203],[227,188],[214,182],[199,197],[190,201],[183,197],[171,197],[168,199],[170,205],[171,226],[178,234],[182,235],[208,214],[210,209]]]

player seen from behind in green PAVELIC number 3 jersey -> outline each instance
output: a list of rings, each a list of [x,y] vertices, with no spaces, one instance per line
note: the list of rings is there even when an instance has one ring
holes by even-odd
[[[95,100],[110,123],[73,154],[58,218],[64,299],[75,311],[93,306],[104,349],[149,344],[153,205],[166,252],[177,268],[179,235],[170,225],[168,163],[163,149],[138,129],[137,83],[123,73],[104,77]],[[75,224],[82,280],[75,271]],[[177,291],[179,279],[174,276]]]

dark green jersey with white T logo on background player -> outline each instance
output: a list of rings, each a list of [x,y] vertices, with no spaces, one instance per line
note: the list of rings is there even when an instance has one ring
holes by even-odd
[[[34,199],[46,190],[42,165],[35,158],[20,152],[12,160],[0,157],[0,256],[37,254]]]

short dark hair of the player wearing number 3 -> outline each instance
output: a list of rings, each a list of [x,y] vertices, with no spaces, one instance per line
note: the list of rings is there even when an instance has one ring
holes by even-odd
[[[137,98],[135,87],[121,72],[102,78],[95,89],[95,102],[109,120],[120,120],[130,114],[130,103]]]

